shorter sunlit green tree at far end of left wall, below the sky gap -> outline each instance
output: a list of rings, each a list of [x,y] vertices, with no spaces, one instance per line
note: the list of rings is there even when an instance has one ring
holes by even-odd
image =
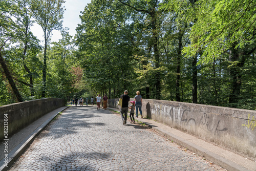
[[[62,30],[62,38],[58,42],[52,42],[53,46],[48,48],[50,60],[47,63],[49,66],[47,82],[51,82],[49,95],[59,98],[68,98],[74,91],[72,84],[75,80],[72,67],[75,65],[75,50],[68,30],[67,28]]]

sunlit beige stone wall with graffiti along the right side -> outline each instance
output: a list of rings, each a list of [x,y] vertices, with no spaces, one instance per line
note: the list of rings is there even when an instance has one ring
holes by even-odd
[[[131,99],[134,100],[134,99]],[[117,108],[118,99],[109,106]],[[256,111],[143,99],[144,117],[256,160]]]

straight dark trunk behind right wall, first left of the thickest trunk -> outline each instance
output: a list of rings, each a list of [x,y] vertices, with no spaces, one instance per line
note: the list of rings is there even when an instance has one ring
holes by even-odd
[[[192,61],[192,86],[192,100],[193,103],[197,103],[197,55]]]

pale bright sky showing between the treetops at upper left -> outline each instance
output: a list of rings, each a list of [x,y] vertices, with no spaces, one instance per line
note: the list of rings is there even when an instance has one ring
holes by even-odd
[[[84,7],[87,6],[87,4],[91,3],[91,0],[66,0],[66,3],[63,4],[65,6],[66,11],[63,14],[63,23],[62,27],[68,27],[69,28],[69,34],[75,36],[76,34],[76,27],[77,24],[81,23],[81,20],[79,18],[79,15],[81,14],[80,11],[84,10]],[[42,31],[42,28],[34,23],[34,26],[31,28],[31,31],[33,34],[41,40],[41,44],[44,43],[44,32]],[[61,39],[61,34],[59,31],[52,31],[52,37],[51,42],[58,41]]]

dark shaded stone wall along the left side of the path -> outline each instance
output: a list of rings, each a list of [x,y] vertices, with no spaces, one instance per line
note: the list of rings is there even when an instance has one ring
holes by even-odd
[[[8,137],[10,137],[34,120],[61,106],[65,106],[65,100],[59,98],[45,98],[0,106],[0,142],[5,139],[5,123],[8,123]],[[8,121],[5,116],[8,116]]]

